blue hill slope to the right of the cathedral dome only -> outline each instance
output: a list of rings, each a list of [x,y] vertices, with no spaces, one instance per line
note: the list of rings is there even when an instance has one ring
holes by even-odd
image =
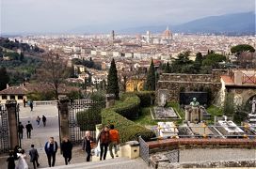
[[[255,34],[255,13],[211,16],[172,27],[174,32]]]

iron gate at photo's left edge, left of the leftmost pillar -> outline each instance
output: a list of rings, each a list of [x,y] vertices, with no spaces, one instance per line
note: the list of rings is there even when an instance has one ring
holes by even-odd
[[[0,153],[8,152],[8,111],[4,104],[0,104]]]

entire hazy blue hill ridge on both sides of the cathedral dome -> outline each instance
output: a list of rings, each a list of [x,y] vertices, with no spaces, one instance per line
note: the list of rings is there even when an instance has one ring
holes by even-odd
[[[119,33],[145,33],[147,30],[152,33],[160,33],[167,25],[141,26],[121,29]],[[210,16],[194,20],[188,23],[170,25],[170,30],[177,33],[216,33],[228,35],[249,35],[255,34],[255,13],[234,13],[220,16]]]

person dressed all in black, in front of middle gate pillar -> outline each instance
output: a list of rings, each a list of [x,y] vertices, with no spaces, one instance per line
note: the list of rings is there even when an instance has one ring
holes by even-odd
[[[61,150],[65,159],[65,164],[68,165],[72,160],[72,142],[67,137],[63,138]]]

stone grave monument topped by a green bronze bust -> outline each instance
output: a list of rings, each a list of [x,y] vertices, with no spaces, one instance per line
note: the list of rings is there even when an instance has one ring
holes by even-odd
[[[203,111],[201,111],[200,102],[193,98],[189,105],[185,107],[185,120],[192,123],[200,122],[202,120]]]

